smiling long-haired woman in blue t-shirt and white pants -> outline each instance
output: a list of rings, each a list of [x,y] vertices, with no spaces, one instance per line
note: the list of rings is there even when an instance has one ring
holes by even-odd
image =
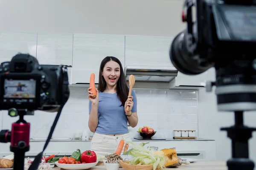
[[[131,127],[138,123],[137,97],[134,91],[128,96],[122,64],[116,57],[105,57],[101,62],[96,98],[90,89],[88,125],[94,132],[91,150],[105,156],[116,151],[121,139],[131,141],[127,123]],[[126,111],[127,106],[130,111]]]

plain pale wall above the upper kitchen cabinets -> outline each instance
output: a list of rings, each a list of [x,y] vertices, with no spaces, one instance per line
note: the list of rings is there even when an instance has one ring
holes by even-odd
[[[2,0],[0,31],[174,36],[183,0]]]

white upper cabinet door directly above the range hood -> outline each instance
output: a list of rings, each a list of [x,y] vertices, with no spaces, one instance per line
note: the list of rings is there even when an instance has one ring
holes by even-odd
[[[125,65],[171,66],[173,37],[125,36]]]

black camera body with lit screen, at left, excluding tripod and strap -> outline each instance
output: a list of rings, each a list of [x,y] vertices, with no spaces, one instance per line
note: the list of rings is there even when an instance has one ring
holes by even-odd
[[[67,102],[65,66],[40,65],[29,54],[17,54],[0,65],[0,110],[49,111]]]

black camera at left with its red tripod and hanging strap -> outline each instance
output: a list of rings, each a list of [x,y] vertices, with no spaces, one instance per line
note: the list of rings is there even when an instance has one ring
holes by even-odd
[[[44,149],[29,167],[38,169],[58,122],[62,108],[70,96],[67,67],[64,65],[40,65],[29,54],[17,54],[11,61],[0,65],[0,110],[8,110],[9,116],[19,116],[12,130],[0,131],[0,142],[10,142],[14,153],[14,170],[24,167],[25,152],[29,151],[30,123],[24,115],[33,115],[35,110],[57,112]]]

